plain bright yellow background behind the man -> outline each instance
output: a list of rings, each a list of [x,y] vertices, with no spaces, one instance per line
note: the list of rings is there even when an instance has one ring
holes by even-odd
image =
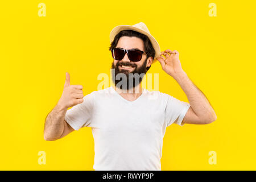
[[[46,17],[39,17],[39,3]],[[217,16],[210,17],[209,3]],[[92,131],[54,142],[44,119],[63,92],[65,72],[84,94],[110,76],[109,34],[144,22],[161,51],[176,49],[184,71],[217,114],[210,125],[171,125],[162,170],[255,170],[255,1],[5,1],[1,2],[1,170],[93,170]],[[159,90],[186,101],[160,63]],[[46,164],[38,164],[38,152]],[[209,151],[217,164],[210,165]]]

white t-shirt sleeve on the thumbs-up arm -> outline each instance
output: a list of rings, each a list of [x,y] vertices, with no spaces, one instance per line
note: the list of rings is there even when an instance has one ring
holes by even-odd
[[[74,129],[79,130],[81,127],[88,126],[92,122],[94,92],[84,96],[81,104],[73,106],[67,110],[65,121]]]

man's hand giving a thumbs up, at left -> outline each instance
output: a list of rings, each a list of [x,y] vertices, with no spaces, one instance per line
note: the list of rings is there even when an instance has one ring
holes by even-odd
[[[82,85],[71,85],[69,73],[66,73],[66,80],[64,84],[63,93],[60,97],[58,105],[68,109],[84,101],[84,94],[82,93]]]

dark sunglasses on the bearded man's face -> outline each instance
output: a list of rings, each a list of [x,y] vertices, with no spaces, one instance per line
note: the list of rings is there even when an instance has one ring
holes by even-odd
[[[111,52],[112,52],[112,57],[118,61],[122,60],[123,57],[125,57],[125,53],[127,52],[129,60],[134,62],[140,61],[142,59],[143,53],[146,53],[144,51],[137,50],[137,49],[122,49],[122,48],[112,48]]]

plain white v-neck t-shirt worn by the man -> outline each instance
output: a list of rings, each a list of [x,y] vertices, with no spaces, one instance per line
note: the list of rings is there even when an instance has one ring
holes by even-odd
[[[84,96],[84,102],[67,110],[65,121],[75,130],[92,128],[93,169],[161,170],[166,127],[183,126],[189,106],[144,88],[137,100],[127,101],[110,86]]]

